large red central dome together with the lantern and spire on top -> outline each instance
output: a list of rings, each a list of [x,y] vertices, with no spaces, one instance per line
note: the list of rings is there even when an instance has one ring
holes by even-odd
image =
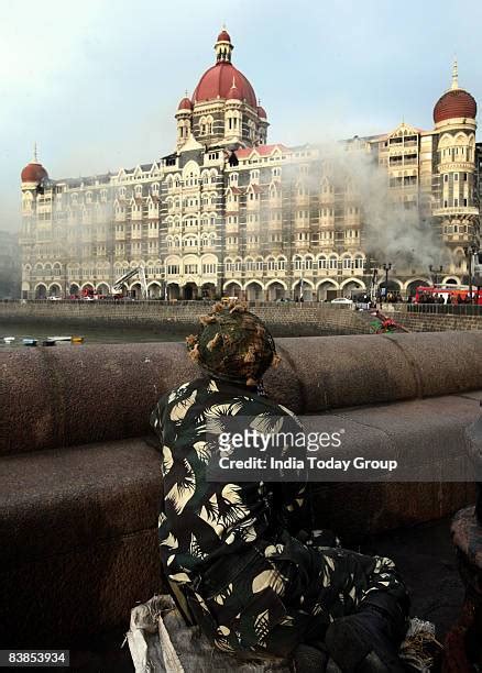
[[[234,48],[229,33],[223,30],[216,43],[217,64],[206,70],[199,79],[194,93],[193,102],[234,98],[245,101],[256,109],[256,95],[242,73],[231,64],[231,53]]]

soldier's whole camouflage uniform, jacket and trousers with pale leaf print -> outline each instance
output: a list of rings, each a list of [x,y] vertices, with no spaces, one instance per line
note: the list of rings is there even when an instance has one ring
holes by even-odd
[[[212,331],[208,336],[189,344],[200,351],[201,362],[216,339]],[[272,341],[260,349],[271,362]],[[286,655],[300,642],[319,643],[330,621],[353,613],[370,592],[391,592],[403,600],[405,588],[388,559],[340,549],[329,532],[305,533],[303,541],[295,537],[305,505],[303,483],[209,481],[210,420],[239,415],[259,418],[261,426],[276,419],[281,432],[302,429],[288,409],[260,394],[251,358],[247,363],[241,354],[241,361],[248,365],[241,376],[229,365],[221,372],[234,383],[198,378],[163,396],[153,411],[164,483],[161,556],[219,649]]]

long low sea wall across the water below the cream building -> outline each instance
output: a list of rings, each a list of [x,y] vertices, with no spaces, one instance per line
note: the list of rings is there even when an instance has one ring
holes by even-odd
[[[20,301],[0,302],[0,323],[35,320],[89,327],[155,327],[188,332],[210,304],[200,301]],[[252,309],[275,336],[365,334],[371,317],[346,307],[324,304],[256,304]]]

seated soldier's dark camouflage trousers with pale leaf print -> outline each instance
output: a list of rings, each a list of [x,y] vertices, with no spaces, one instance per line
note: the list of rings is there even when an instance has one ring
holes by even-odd
[[[372,592],[407,605],[393,561],[366,556],[287,532],[223,556],[189,591],[202,630],[222,651],[288,655],[300,642],[320,643],[329,624],[354,613]]]

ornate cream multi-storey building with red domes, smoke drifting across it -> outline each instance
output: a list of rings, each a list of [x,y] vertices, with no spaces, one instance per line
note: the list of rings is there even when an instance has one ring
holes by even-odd
[[[322,300],[369,289],[373,267],[384,262],[392,263],[393,288],[430,283],[426,266],[373,256],[366,210],[329,150],[266,144],[267,114],[232,65],[224,30],[215,51],[215,65],[178,104],[172,154],[77,179],[51,179],[36,156],[25,166],[23,296],[108,294],[140,265],[150,296],[186,299],[303,293]],[[390,199],[434,229],[448,251],[446,283],[467,282],[463,249],[479,244],[475,117],[456,65],[432,130],[401,123],[340,143],[369,155],[386,172]],[[135,278],[128,289],[140,293]]]

